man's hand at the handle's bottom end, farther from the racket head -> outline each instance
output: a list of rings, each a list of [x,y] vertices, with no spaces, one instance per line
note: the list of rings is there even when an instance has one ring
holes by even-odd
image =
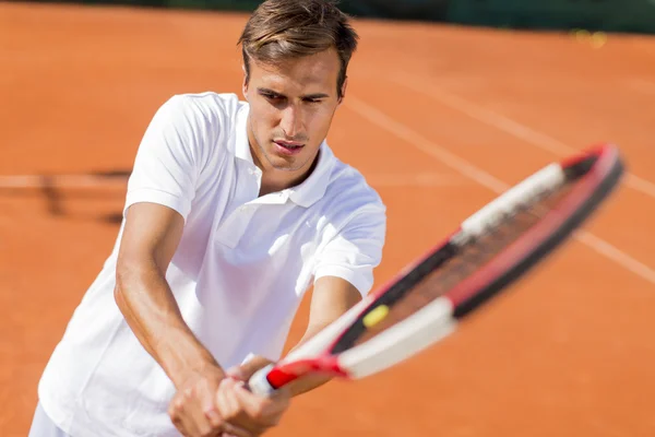
[[[206,365],[191,373],[178,387],[168,406],[168,415],[184,437],[219,437],[223,433],[252,437],[249,432],[226,423],[218,413],[214,399],[224,378],[219,367]]]

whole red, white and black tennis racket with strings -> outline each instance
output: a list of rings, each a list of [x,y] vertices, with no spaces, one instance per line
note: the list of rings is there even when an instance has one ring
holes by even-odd
[[[565,241],[622,174],[614,145],[544,167],[308,342],[255,373],[250,389],[271,395],[312,373],[359,379],[437,343]]]

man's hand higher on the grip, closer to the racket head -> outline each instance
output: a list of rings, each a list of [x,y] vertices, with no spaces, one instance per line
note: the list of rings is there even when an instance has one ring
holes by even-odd
[[[221,381],[216,392],[216,406],[224,421],[252,436],[260,436],[279,423],[290,404],[290,392],[285,388],[271,398],[260,397],[248,390],[245,381],[226,378]],[[230,434],[234,433],[227,433]]]

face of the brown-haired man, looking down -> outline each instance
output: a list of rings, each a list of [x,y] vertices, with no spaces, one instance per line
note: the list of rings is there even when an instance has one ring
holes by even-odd
[[[248,139],[261,166],[298,173],[311,167],[341,103],[340,68],[333,49],[278,66],[250,60],[243,81]]]

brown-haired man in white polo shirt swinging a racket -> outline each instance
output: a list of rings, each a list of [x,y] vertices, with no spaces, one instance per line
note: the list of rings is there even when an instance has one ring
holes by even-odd
[[[116,246],[39,382],[44,436],[258,436],[271,399],[242,382],[372,286],[385,208],[325,138],[357,46],[327,0],[269,0],[246,25],[243,96],[174,96],[136,153]]]

